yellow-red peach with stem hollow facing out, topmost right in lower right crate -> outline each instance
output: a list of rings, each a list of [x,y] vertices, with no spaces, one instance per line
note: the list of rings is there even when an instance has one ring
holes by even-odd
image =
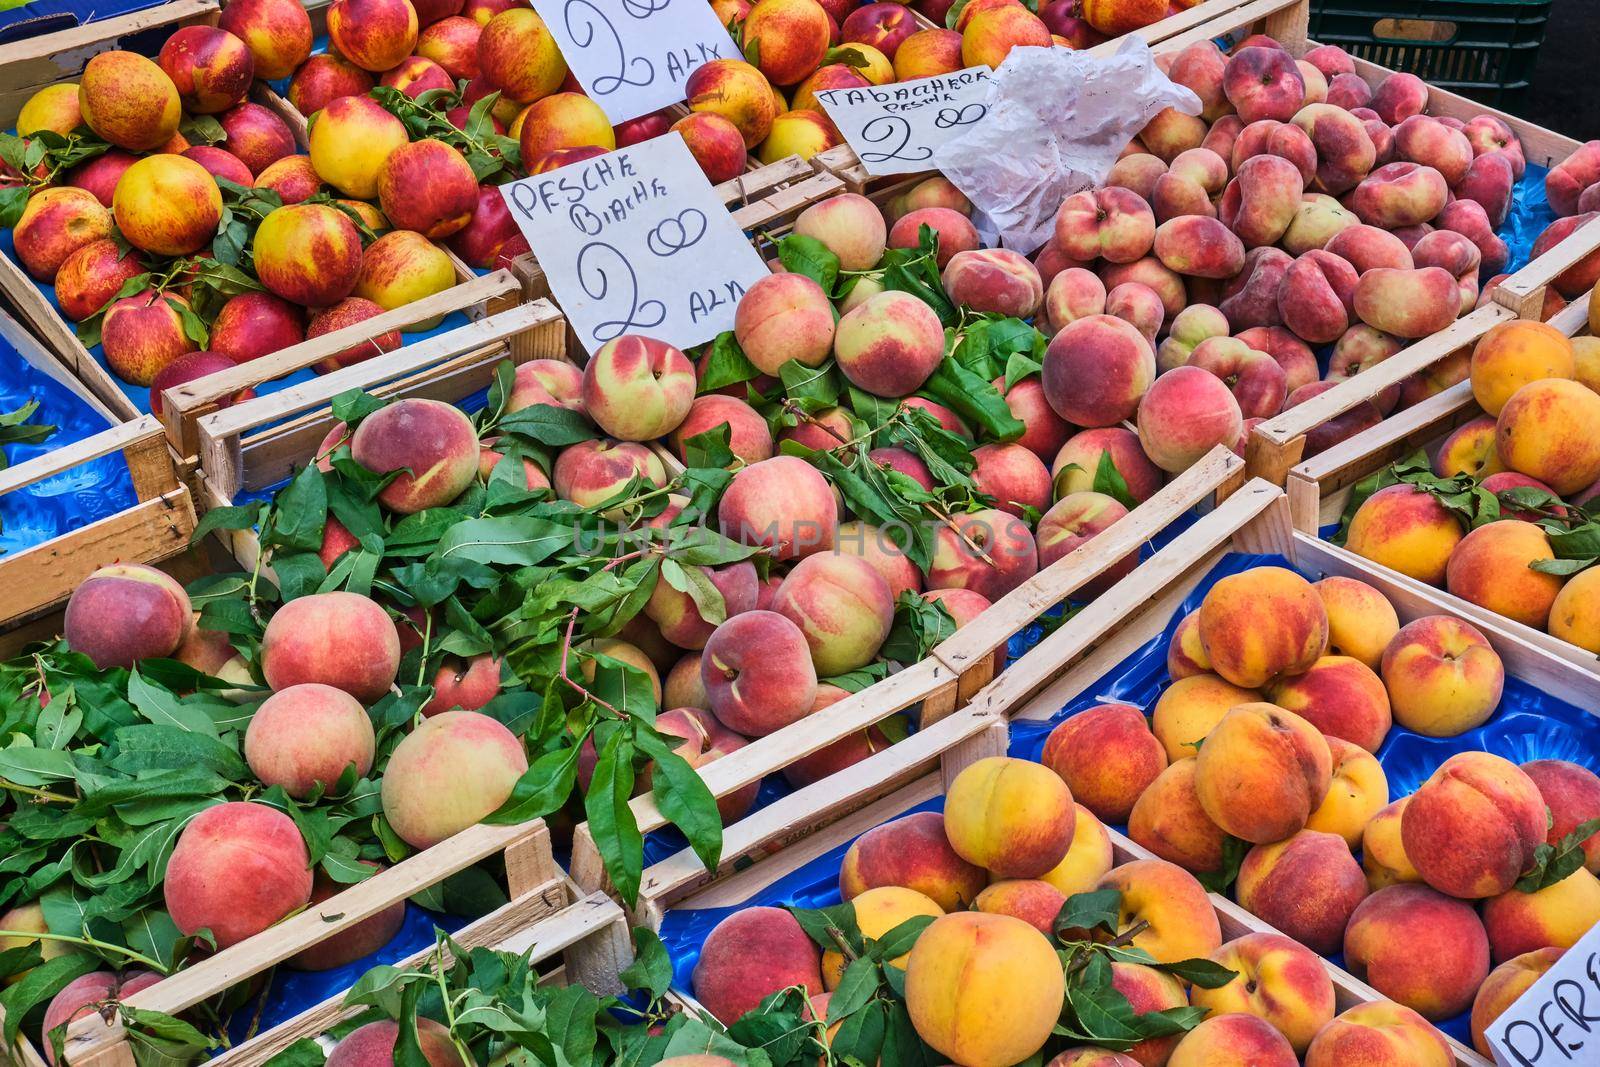
[[[1384,683],[1395,721],[1454,737],[1485,723],[1499,705],[1506,670],[1483,635],[1450,616],[1406,624],[1384,651]]]

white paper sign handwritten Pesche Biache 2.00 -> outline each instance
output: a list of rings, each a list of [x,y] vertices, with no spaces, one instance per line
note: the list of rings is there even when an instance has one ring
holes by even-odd
[[[626,333],[710,341],[770,274],[678,133],[501,194],[590,354]]]

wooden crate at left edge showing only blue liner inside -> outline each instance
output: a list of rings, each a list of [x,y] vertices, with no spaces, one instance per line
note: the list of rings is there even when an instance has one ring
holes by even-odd
[[[56,632],[51,617],[78,582],[115,561],[162,563],[189,549],[195,506],[155,416],[101,430],[0,470],[0,496],[122,453],[138,502],[43,544],[0,557],[0,649],[13,654]]]

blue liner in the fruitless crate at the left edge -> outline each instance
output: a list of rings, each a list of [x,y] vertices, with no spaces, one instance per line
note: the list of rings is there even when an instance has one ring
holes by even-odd
[[[0,411],[14,411],[30,400],[38,402],[32,421],[54,426],[56,432],[37,445],[6,445],[10,464],[45,456],[110,427],[82,397],[0,339]],[[136,502],[122,453],[78,464],[0,496],[0,555],[43,544]]]

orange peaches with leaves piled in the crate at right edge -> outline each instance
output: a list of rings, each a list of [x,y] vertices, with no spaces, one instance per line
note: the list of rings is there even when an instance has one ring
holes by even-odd
[[[1552,536],[1589,522],[1584,509],[1600,496],[1600,341],[1538,322],[1502,323],[1474,346],[1470,381],[1483,414],[1432,456],[1434,474],[1448,482],[1378,490],[1350,517],[1346,545],[1600,653],[1600,568],[1562,569],[1552,545]],[[1496,494],[1499,507],[1470,522],[1446,507],[1442,498],[1459,477]],[[1541,563],[1550,569],[1536,569]]]

